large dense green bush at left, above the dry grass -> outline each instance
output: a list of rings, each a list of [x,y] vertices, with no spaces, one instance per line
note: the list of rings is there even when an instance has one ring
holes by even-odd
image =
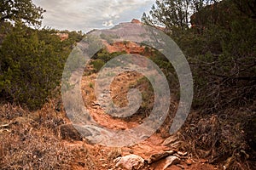
[[[44,105],[61,82],[71,51],[65,43],[49,31],[15,26],[0,48],[0,97],[30,109]]]

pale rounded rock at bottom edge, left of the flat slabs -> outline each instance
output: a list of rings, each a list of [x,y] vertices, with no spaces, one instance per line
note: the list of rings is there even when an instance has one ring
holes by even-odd
[[[117,158],[117,163],[115,167],[121,167],[126,170],[137,170],[144,166],[144,160],[141,156],[128,155],[121,158]]]

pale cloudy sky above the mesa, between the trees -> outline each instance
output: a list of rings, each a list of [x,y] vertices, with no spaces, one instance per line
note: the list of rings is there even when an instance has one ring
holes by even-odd
[[[46,10],[43,26],[58,30],[91,31],[140,20],[155,0],[32,0]]]

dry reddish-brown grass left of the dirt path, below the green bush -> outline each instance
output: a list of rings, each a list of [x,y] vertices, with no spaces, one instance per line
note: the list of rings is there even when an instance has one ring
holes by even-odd
[[[15,105],[0,106],[0,169],[94,168],[88,150],[71,147],[55,135],[55,127],[67,122],[54,102],[30,112]]]

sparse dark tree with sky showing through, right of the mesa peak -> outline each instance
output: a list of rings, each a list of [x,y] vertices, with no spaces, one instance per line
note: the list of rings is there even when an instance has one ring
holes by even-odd
[[[219,0],[156,0],[149,14],[143,14],[143,22],[149,26],[164,26],[167,30],[173,28],[187,29],[190,16],[209,4]]]

